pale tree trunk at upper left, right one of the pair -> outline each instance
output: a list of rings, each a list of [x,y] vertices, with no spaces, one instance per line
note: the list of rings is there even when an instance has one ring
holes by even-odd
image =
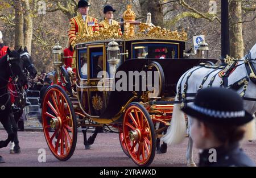
[[[31,53],[32,35],[33,35],[33,19],[30,9],[29,0],[22,2],[24,9],[24,46],[27,47],[29,53]]]

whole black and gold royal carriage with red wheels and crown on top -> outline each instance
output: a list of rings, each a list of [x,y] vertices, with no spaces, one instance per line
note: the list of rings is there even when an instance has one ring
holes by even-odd
[[[118,130],[126,155],[137,165],[151,164],[156,138],[170,126],[177,81],[205,61],[183,59],[185,31],[139,23],[131,14],[129,7],[122,36],[117,26],[77,37],[75,81],[63,67],[62,48],[54,48],[56,75],[44,96],[42,119],[47,144],[57,159],[71,158],[78,127],[111,126]],[[163,127],[156,129],[159,123]]]

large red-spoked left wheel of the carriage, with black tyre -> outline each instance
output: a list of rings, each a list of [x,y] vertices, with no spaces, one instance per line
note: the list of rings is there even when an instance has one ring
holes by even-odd
[[[50,86],[42,103],[44,136],[52,154],[61,161],[73,155],[77,140],[76,115],[68,94],[59,85]]]

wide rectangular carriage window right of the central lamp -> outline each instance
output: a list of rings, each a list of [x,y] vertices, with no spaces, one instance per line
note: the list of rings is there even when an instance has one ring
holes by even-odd
[[[135,44],[134,59],[175,59],[178,58],[178,47],[175,44]]]

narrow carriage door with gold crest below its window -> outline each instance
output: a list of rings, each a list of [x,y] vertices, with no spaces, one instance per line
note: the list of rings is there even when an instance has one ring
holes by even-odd
[[[90,115],[100,116],[106,108],[105,92],[98,90],[98,82],[106,71],[106,51],[104,44],[88,45],[89,52],[89,109]]]

